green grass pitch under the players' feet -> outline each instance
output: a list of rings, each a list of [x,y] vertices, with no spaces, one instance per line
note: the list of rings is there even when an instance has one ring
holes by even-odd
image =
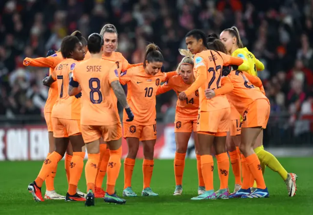
[[[85,207],[84,202],[65,202],[46,200],[34,202],[27,191],[42,162],[0,162],[0,214],[6,215],[61,215],[61,214],[101,214],[101,215],[313,215],[313,158],[280,158],[282,165],[296,173],[298,191],[296,196],[289,197],[284,182],[278,173],[268,167],[265,181],[270,192],[267,199],[228,199],[191,201],[197,195],[198,179],[196,160],[186,160],[183,178],[183,195],[173,196],[175,188],[173,160],[156,160],[151,187],[159,193],[158,197],[126,198],[125,205],[114,205],[96,199],[95,207]],[[137,160],[133,174],[133,190],[140,195],[142,191],[142,160]],[[123,165],[122,165],[123,166]],[[217,166],[214,169],[214,186],[219,188]],[[233,190],[234,177],[231,169],[229,189]],[[105,186],[105,183],[104,183]],[[86,191],[85,173],[79,182],[79,189]],[[58,166],[55,178],[55,189],[66,194],[67,179],[64,162]],[[116,190],[118,195],[123,191],[123,169],[121,169]],[[43,187],[45,193],[45,187]]]

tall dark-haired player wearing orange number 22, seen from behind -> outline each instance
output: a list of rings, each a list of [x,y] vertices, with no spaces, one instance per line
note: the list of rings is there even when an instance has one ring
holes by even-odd
[[[186,34],[185,41],[191,53],[196,54],[194,71],[197,72],[198,77],[187,90],[179,94],[179,99],[185,100],[187,96],[199,89],[197,134],[199,143],[201,143],[199,144],[199,153],[205,185],[205,192],[192,198],[192,200],[226,198],[228,187],[227,169],[229,169],[228,156],[226,152],[217,155],[221,186],[219,193],[216,194],[213,187],[214,164],[211,148],[214,142],[225,145],[226,132],[229,130],[230,106],[223,94],[232,90],[232,85],[226,85],[223,88],[224,93],[214,99],[206,99],[203,92],[205,89],[221,88],[223,66],[239,66],[243,63],[243,60],[231,57],[223,52],[209,50],[206,36],[198,29],[189,31]]]

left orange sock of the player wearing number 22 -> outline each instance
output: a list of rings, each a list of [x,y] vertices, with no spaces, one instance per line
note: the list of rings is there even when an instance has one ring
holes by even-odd
[[[201,155],[201,171],[203,175],[205,191],[214,190],[213,169],[214,163],[212,155]]]

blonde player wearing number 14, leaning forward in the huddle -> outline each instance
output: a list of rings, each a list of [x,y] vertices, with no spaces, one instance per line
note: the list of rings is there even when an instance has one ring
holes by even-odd
[[[157,90],[156,95],[165,93],[169,90],[174,90],[178,96],[179,92],[186,90],[195,81],[195,76],[193,72],[194,59],[192,57],[192,53],[185,49],[179,49],[179,53],[185,56],[182,58],[177,68],[177,72],[179,72],[179,75],[171,77]],[[177,100],[175,115],[176,153],[174,160],[176,188],[173,195],[182,194],[182,175],[185,167],[185,156],[192,131],[194,132],[196,152],[199,148],[197,136],[198,108],[198,90],[188,96],[184,101]],[[201,162],[199,154],[197,154],[197,169],[199,180],[198,194],[201,194],[205,191],[205,188],[201,172]]]

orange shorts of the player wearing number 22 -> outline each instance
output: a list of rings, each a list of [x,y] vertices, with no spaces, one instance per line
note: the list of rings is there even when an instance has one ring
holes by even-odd
[[[227,132],[229,131],[230,108],[216,111],[201,111],[198,115],[197,132]]]

